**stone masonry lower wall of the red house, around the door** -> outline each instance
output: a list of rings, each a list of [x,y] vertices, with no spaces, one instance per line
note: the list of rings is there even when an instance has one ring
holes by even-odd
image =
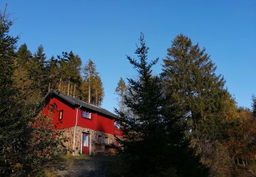
[[[82,148],[82,141],[83,141],[82,139],[83,133],[89,133],[90,155],[97,155],[99,153],[100,154],[115,153],[115,150],[113,148],[108,147],[109,144],[115,144],[114,135],[77,126],[76,133],[75,133],[74,154],[78,155],[82,152],[81,148]],[[72,152],[73,142],[74,142],[74,127],[63,129],[63,135],[68,140],[68,142],[65,143],[66,147],[68,148],[68,152]],[[101,135],[103,138],[108,137],[109,144],[98,143],[98,135]]]

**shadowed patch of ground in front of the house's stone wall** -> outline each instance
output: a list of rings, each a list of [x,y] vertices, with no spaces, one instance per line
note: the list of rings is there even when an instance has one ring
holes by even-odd
[[[45,170],[46,176],[109,176],[115,156],[88,157],[86,155],[63,157],[53,170]],[[112,176],[112,175],[111,175]]]

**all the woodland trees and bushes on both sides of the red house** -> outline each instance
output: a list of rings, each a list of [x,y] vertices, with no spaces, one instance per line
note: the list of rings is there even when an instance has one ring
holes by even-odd
[[[82,66],[73,52],[47,58],[43,46],[32,53],[16,45],[11,26],[1,12],[0,176],[40,175],[59,163],[66,141],[40,114],[44,95],[55,89],[100,106],[104,90],[93,61]],[[186,35],[171,42],[159,76],[148,51],[141,34],[138,59],[127,57],[138,77],[120,78],[115,89],[124,137],[113,145],[121,159],[113,176],[255,175],[256,98],[251,110],[239,108],[205,48]]]

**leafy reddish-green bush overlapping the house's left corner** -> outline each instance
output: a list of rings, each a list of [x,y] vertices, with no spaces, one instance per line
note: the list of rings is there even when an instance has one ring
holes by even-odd
[[[51,167],[53,161],[58,159],[63,152],[66,152],[66,138],[62,131],[53,129],[53,114],[55,106],[51,106],[49,114],[38,114],[31,123],[31,138],[29,139],[29,148],[27,149],[24,168],[31,174],[38,174],[46,167]]]

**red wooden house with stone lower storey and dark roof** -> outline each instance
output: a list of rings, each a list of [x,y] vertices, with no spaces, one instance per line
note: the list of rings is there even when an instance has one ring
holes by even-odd
[[[115,127],[115,114],[56,91],[47,93],[44,102],[44,114],[50,114],[48,106],[57,106],[53,123],[63,130],[66,146],[73,154],[96,155],[109,152],[109,144],[118,146],[114,135],[121,136],[122,132]]]

